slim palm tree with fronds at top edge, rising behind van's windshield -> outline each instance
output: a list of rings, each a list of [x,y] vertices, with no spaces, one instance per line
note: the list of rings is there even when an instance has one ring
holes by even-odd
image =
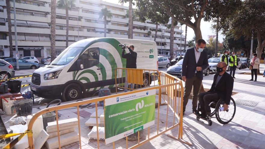
[[[76,5],[74,4],[75,0],[59,0],[57,2],[58,8],[65,9],[66,14],[66,48],[68,47],[68,32],[69,32],[69,10],[71,8],[75,8]]]

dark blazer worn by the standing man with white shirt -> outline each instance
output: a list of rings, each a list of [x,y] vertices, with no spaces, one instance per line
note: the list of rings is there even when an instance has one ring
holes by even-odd
[[[182,63],[182,76],[186,76],[187,79],[190,79],[194,76],[196,67],[202,67],[201,71],[197,71],[198,79],[203,79],[203,70],[208,67],[208,56],[206,51],[202,51],[199,61],[196,64],[195,51],[194,48],[190,48],[186,51],[184,60]]]

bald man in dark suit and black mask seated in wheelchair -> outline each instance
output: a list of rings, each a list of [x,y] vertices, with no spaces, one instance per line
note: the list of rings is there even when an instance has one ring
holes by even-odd
[[[201,114],[199,115],[202,118],[210,117],[211,109],[210,102],[218,101],[220,98],[225,102],[223,104],[224,110],[228,109],[230,104],[230,99],[234,86],[234,79],[231,75],[226,73],[226,63],[220,62],[217,64],[217,74],[214,75],[214,82],[211,89],[208,92],[199,94],[199,102],[201,106]]]

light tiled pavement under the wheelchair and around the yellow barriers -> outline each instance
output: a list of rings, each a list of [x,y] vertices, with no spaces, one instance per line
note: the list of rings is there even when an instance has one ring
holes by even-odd
[[[261,64],[261,71],[264,70],[264,64]],[[249,70],[236,70],[237,73],[240,72],[249,72]],[[147,142],[142,145],[141,149],[175,149],[175,148],[195,148],[195,149],[263,149],[265,147],[265,78],[258,76],[258,82],[250,82],[251,79],[249,75],[236,74],[236,79],[234,82],[234,92],[238,92],[233,96],[235,101],[239,99],[258,101],[256,107],[236,105],[236,114],[232,122],[229,124],[223,125],[218,123],[215,117],[212,118],[213,125],[208,126],[206,121],[197,121],[196,116],[189,111],[191,109],[192,103],[189,101],[186,113],[183,118],[183,139],[185,141],[191,142],[193,145],[188,146],[179,141],[176,141],[172,138],[169,138],[167,134],[171,134],[177,137],[178,127],[168,131],[167,133]],[[205,76],[203,80],[204,88],[210,88],[210,85],[213,80],[213,75]],[[45,106],[41,107],[43,109]],[[102,107],[99,107],[102,109]],[[33,108],[36,112],[38,109]],[[89,113],[93,113],[95,108],[80,109],[85,110]],[[34,112],[33,111],[33,112]],[[59,111],[61,114],[60,120],[76,117],[76,109],[63,110]],[[160,121],[159,121],[159,130],[165,130],[165,121],[166,121],[166,111],[167,106],[161,106],[160,109]],[[157,112],[157,110],[156,110]],[[164,115],[163,115],[164,114]],[[157,114],[156,114],[157,115]],[[86,116],[84,116],[86,117]],[[3,117],[2,119],[6,122],[10,117]],[[80,117],[81,124],[81,140],[82,148],[97,148],[97,141],[88,140],[87,134],[90,132],[88,126],[85,126],[84,123],[88,118]],[[168,126],[173,123],[173,114],[169,114]],[[6,123],[6,126],[8,124]],[[150,137],[156,134],[157,120],[155,126],[150,127]],[[145,136],[148,131],[144,130]],[[144,137],[143,137],[144,138]],[[137,141],[129,141],[129,147],[137,144]],[[120,139],[115,142],[115,148],[125,148],[126,141]],[[45,147],[43,147],[45,148]],[[63,149],[68,148],[79,148],[79,143],[70,144],[68,146],[62,147]],[[112,144],[104,145],[103,141],[100,141],[100,148],[112,148]]]

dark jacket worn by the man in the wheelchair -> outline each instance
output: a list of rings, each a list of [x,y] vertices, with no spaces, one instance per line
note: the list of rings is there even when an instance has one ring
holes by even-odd
[[[216,92],[218,96],[222,98],[227,105],[229,105],[234,86],[234,79],[230,74],[225,72],[215,87],[215,79],[218,75],[219,73],[214,75],[214,82],[208,92]]]

